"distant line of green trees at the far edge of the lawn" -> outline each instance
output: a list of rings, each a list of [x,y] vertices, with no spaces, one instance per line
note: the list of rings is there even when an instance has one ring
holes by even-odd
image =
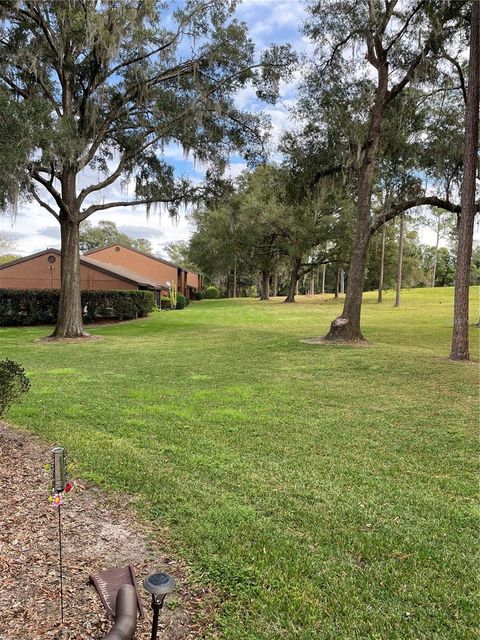
[[[345,201],[341,206],[340,194],[332,190],[330,198],[312,197],[308,205],[304,201],[294,206],[287,191],[288,175],[279,167],[246,171],[222,201],[193,213],[196,231],[191,241],[167,246],[170,258],[201,271],[228,297],[285,296],[293,302],[297,292],[344,293],[352,248],[351,205]],[[434,233],[434,245],[420,242],[421,226]],[[378,289],[381,278],[382,289],[396,287],[399,236],[397,220],[386,222],[374,235],[365,291]],[[404,219],[401,288],[453,286],[456,246],[454,214],[432,209]],[[476,247],[471,284],[480,282],[479,261]]]

